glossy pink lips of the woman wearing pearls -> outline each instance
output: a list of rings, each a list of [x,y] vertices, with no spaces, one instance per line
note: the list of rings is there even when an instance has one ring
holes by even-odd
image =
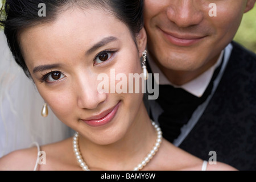
[[[120,102],[118,102],[117,105],[112,107],[111,109],[105,110],[102,113],[95,115],[90,118],[81,119],[89,126],[102,126],[106,123],[109,123],[112,121],[112,119],[115,117],[115,114],[117,113],[117,110],[119,108]]]

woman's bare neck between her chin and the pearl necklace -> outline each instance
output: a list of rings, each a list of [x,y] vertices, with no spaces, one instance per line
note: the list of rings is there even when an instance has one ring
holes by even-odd
[[[91,170],[131,170],[142,162],[154,146],[156,131],[144,104],[123,138],[101,145],[80,138],[80,150]]]

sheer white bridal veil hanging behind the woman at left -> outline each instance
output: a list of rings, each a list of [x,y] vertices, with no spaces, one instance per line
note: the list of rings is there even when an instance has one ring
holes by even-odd
[[[16,64],[0,29],[0,158],[11,151],[57,142],[73,131],[59,121],[49,108],[41,116],[44,101],[33,82]]]

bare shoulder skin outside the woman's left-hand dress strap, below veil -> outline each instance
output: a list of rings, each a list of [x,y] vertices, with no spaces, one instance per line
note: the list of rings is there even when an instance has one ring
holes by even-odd
[[[37,147],[16,150],[0,158],[1,171],[31,171],[38,156]]]

